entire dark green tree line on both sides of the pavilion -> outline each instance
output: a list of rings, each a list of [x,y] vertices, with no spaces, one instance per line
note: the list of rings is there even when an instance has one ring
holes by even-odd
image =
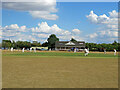
[[[52,34],[47,39],[47,42],[40,43],[37,41],[29,42],[29,41],[14,41],[14,40],[2,40],[2,48],[3,49],[10,49],[13,47],[14,49],[25,49],[30,47],[48,47],[48,49],[54,50],[55,49],[55,42],[59,41],[59,38],[56,37],[55,34]],[[71,39],[72,42],[77,42],[75,39]],[[113,43],[106,44],[97,44],[97,43],[85,43],[85,47],[89,48],[90,51],[103,51],[106,49],[107,51],[113,51],[116,49],[120,51],[120,43],[114,41]]]

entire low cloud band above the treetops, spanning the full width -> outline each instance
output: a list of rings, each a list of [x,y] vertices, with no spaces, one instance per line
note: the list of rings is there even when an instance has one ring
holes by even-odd
[[[55,34],[60,40],[70,40],[71,38],[74,38],[78,41],[85,40],[85,41],[103,41],[105,40],[113,40],[115,37],[118,36],[117,31],[98,31],[93,34],[89,34],[87,36],[84,35],[84,37],[81,34],[81,31],[79,29],[73,29],[71,31],[63,30],[58,25],[54,24],[52,26],[49,26],[47,22],[39,23],[37,27],[27,28],[24,26],[18,26],[17,24],[12,24],[9,26],[5,26],[2,28],[3,31],[3,39],[11,39],[11,40],[22,40],[22,41],[40,41],[43,43],[46,41],[46,39],[51,35]],[[73,33],[74,32],[74,33]],[[76,34],[75,34],[76,33]],[[79,33],[79,34],[78,34]],[[106,38],[103,38],[106,37]],[[112,38],[112,39],[111,39]],[[104,41],[105,41],[104,40]]]

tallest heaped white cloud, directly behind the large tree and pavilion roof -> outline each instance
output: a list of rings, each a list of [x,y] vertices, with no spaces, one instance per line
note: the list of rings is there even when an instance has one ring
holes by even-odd
[[[71,32],[68,30],[63,30],[56,24],[49,26],[47,22],[42,22],[38,24],[38,27],[32,28],[33,35],[40,38],[48,38],[51,34],[56,34],[60,40],[70,40],[75,38],[76,40],[82,39],[79,34],[81,31],[79,29],[73,29]],[[40,33],[40,34],[38,34]]]

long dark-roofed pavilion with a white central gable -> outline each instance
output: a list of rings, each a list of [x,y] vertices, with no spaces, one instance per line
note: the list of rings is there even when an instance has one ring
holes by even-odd
[[[83,50],[85,48],[85,41],[56,41],[55,50],[71,50],[77,48],[78,50]]]

